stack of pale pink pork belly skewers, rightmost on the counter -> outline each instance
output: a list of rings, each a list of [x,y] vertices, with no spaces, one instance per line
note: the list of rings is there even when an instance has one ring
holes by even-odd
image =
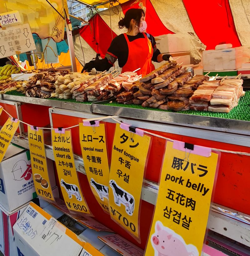
[[[189,99],[191,110],[229,113],[245,93],[242,79],[206,81]]]

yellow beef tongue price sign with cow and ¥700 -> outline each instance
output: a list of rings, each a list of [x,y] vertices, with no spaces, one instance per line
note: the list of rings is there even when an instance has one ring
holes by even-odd
[[[149,145],[149,136],[139,136],[116,125],[109,176],[110,216],[138,241],[139,209]]]

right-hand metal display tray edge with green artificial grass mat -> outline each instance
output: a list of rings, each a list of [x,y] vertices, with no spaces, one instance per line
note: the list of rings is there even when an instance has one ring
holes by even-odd
[[[133,109],[133,110],[132,110]],[[209,111],[178,111],[143,108],[141,105],[101,101],[92,104],[93,113],[118,115],[140,120],[199,127],[210,130],[250,135],[250,91],[240,98],[229,113]]]

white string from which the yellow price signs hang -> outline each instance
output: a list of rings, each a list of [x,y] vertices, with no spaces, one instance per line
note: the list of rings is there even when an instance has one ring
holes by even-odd
[[[4,111],[6,114],[8,114],[11,118],[13,118],[12,115],[10,115],[4,108],[3,108],[3,111]],[[119,123],[119,124],[122,124],[121,121],[119,121],[119,120],[113,118],[113,116],[107,116],[107,117],[105,117],[105,118],[99,117],[99,118],[96,118],[95,120],[108,119],[108,118],[114,120],[115,122],[117,122],[117,123]],[[88,120],[93,120],[93,118],[84,119],[84,121],[88,121]],[[33,126],[33,125],[27,124],[27,123],[25,123],[25,122],[23,122],[23,121],[21,121],[21,120],[19,120],[19,121],[20,121],[21,123],[23,123],[23,124],[26,124],[26,125],[29,125],[29,126]],[[74,127],[77,127],[77,126],[79,126],[79,124],[78,124],[78,125],[73,125],[73,126],[70,126],[70,127],[67,127],[67,128],[63,128],[63,129],[67,130],[67,129],[71,129],[71,128],[74,128]],[[37,127],[37,128],[38,128],[38,129],[46,129],[46,130],[53,130],[53,129],[54,129],[54,128],[45,128],[45,127]],[[158,135],[158,134],[155,134],[155,133],[152,133],[152,132],[149,132],[149,131],[144,131],[144,130],[143,130],[143,132],[146,133],[146,134],[149,134],[149,135],[152,135],[152,136],[155,136],[155,137],[158,137],[158,138],[161,138],[161,139],[164,139],[164,140],[173,142],[173,140],[170,139],[170,138],[168,138],[168,137],[163,137],[163,136],[161,136],[161,135]],[[214,150],[214,151],[220,151],[220,152],[225,152],[225,153],[232,153],[232,154],[237,154],[237,155],[246,155],[246,156],[250,156],[250,153],[247,153],[247,152],[230,151],[230,150],[224,150],[224,149],[218,149],[218,148],[211,148],[211,149]]]

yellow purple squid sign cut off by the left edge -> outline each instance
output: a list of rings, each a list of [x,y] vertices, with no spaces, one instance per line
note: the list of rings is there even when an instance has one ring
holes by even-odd
[[[1,108],[2,109],[2,108]],[[0,163],[7,151],[10,142],[17,131],[20,121],[16,118],[9,117],[0,131]]]

